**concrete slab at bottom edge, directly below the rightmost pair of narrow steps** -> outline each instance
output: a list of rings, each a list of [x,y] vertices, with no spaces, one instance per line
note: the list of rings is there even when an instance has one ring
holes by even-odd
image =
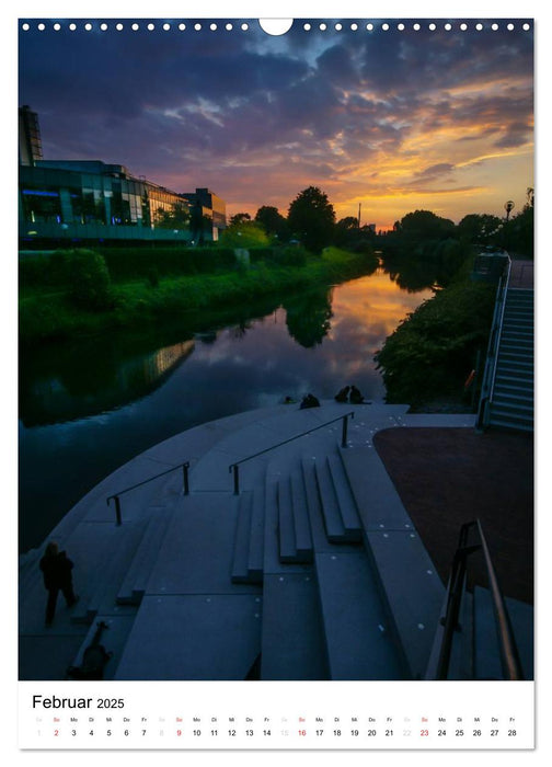
[[[366,551],[317,553],[314,562],[330,678],[404,678]]]

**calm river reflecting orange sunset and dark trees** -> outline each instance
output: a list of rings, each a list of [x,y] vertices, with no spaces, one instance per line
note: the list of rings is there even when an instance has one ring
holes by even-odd
[[[332,398],[348,384],[383,401],[373,354],[430,295],[378,271],[208,332],[152,329],[35,350],[20,371],[20,551],[99,480],[191,426],[286,396]]]

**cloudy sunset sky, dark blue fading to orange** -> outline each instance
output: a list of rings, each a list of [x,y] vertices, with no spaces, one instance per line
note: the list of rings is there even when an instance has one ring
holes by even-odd
[[[424,208],[458,222],[515,213],[533,185],[532,24],[404,20],[294,23],[108,19],[106,31],[31,21],[20,33],[20,105],[45,159],[99,159],[175,192],[208,186],[231,215],[320,186],[337,218],[386,229]],[[170,24],[163,30],[163,23]],[[210,24],[217,24],[211,31]],[[507,28],[514,24],[514,30]],[[21,26],[21,24],[20,24]]]

